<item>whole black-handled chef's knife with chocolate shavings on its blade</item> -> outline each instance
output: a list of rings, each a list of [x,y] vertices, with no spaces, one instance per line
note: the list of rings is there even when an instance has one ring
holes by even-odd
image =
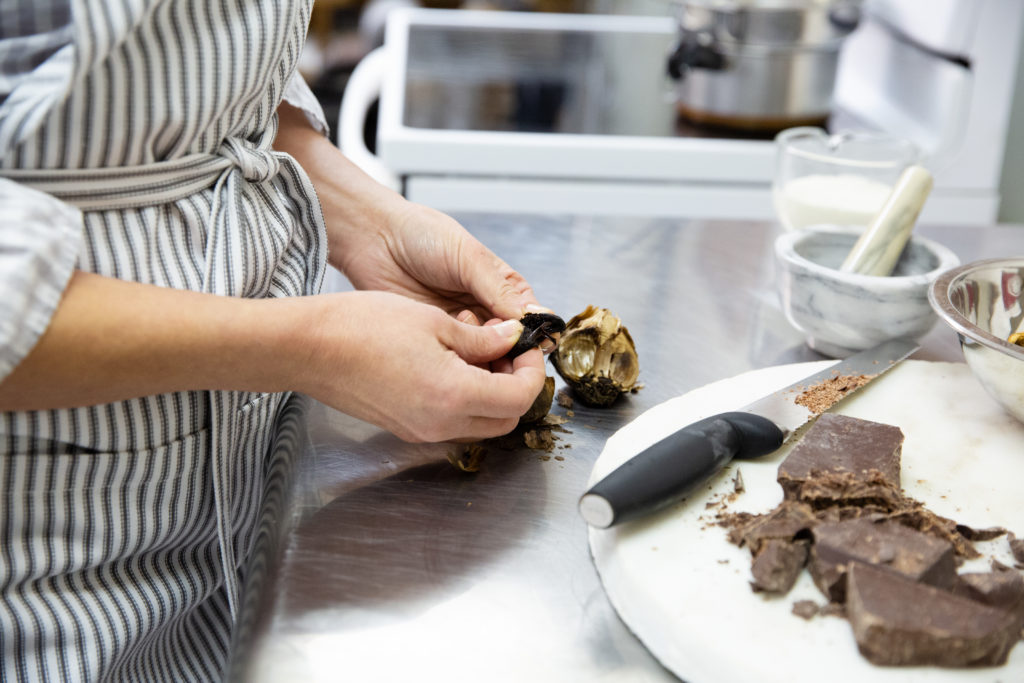
[[[580,499],[580,514],[592,526],[606,528],[672,505],[733,458],[757,458],[777,451],[820,413],[796,402],[806,390],[840,376],[863,375],[873,380],[916,349],[911,341],[883,342],[737,412],[683,427],[594,484]]]

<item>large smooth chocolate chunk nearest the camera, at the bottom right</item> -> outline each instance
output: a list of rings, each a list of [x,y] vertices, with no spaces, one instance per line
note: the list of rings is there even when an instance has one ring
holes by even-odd
[[[881,666],[993,667],[1020,637],[1014,614],[866,564],[850,567],[847,616]]]

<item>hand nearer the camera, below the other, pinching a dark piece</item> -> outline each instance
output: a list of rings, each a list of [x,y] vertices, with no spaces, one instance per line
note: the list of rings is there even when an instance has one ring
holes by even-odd
[[[492,372],[515,343],[517,321],[477,326],[383,292],[308,297],[313,343],[300,391],[407,441],[487,438],[515,428],[541,391],[541,352]]]

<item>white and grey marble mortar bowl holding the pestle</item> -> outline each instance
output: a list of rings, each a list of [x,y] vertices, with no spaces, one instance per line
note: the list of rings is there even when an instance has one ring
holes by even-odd
[[[959,264],[932,240],[910,238],[892,275],[841,272],[861,228],[815,225],[775,240],[777,286],[786,319],[807,345],[845,357],[887,339],[920,339],[938,319],[931,284]]]

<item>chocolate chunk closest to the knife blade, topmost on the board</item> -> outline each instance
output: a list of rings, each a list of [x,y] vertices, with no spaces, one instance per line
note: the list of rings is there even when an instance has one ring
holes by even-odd
[[[801,498],[805,482],[821,474],[847,474],[853,481],[900,487],[899,427],[825,413],[779,465],[778,482],[787,499]]]

